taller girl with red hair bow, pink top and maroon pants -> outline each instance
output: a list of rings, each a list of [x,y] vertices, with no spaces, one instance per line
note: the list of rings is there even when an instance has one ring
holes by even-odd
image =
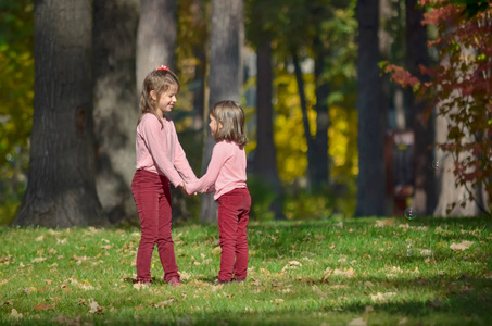
[[[197,180],[179,145],[173,121],[166,113],[176,103],[179,80],[166,66],[150,72],[140,96],[141,116],[137,124],[137,172],[131,192],[140,218],[141,238],[137,252],[137,280],[151,285],[152,252],[157,244],[164,280],[180,286],[180,277],[171,236],[171,191]]]

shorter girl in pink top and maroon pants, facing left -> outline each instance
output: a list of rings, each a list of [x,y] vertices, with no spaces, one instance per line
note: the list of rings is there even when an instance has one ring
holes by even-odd
[[[222,101],[210,112],[209,124],[216,145],[206,174],[197,181],[186,181],[194,192],[215,191],[218,202],[220,271],[218,283],[243,281],[248,273],[247,227],[251,197],[247,187],[244,112],[235,101]]]

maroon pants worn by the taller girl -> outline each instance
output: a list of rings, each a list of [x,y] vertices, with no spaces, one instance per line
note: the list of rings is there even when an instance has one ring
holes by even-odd
[[[140,218],[141,238],[137,252],[137,280],[152,281],[150,265],[154,246],[164,268],[164,279],[179,279],[171,236],[171,190],[165,176],[138,170],[131,181],[131,192]]]

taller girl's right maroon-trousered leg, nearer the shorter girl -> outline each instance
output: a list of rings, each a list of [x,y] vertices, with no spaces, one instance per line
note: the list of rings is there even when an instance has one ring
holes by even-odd
[[[165,176],[161,176],[161,184],[164,192],[159,198],[159,237],[157,250],[164,268],[164,280],[169,281],[173,278],[179,280],[178,265],[174,252],[174,241],[171,235],[172,226],[172,206],[169,181]]]

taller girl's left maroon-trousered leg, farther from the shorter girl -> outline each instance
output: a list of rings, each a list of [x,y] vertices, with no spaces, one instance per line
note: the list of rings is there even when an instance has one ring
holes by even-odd
[[[151,283],[150,266],[157,239],[159,176],[147,171],[137,171],[131,181],[131,192],[140,218],[141,238],[137,251],[137,280]]]

